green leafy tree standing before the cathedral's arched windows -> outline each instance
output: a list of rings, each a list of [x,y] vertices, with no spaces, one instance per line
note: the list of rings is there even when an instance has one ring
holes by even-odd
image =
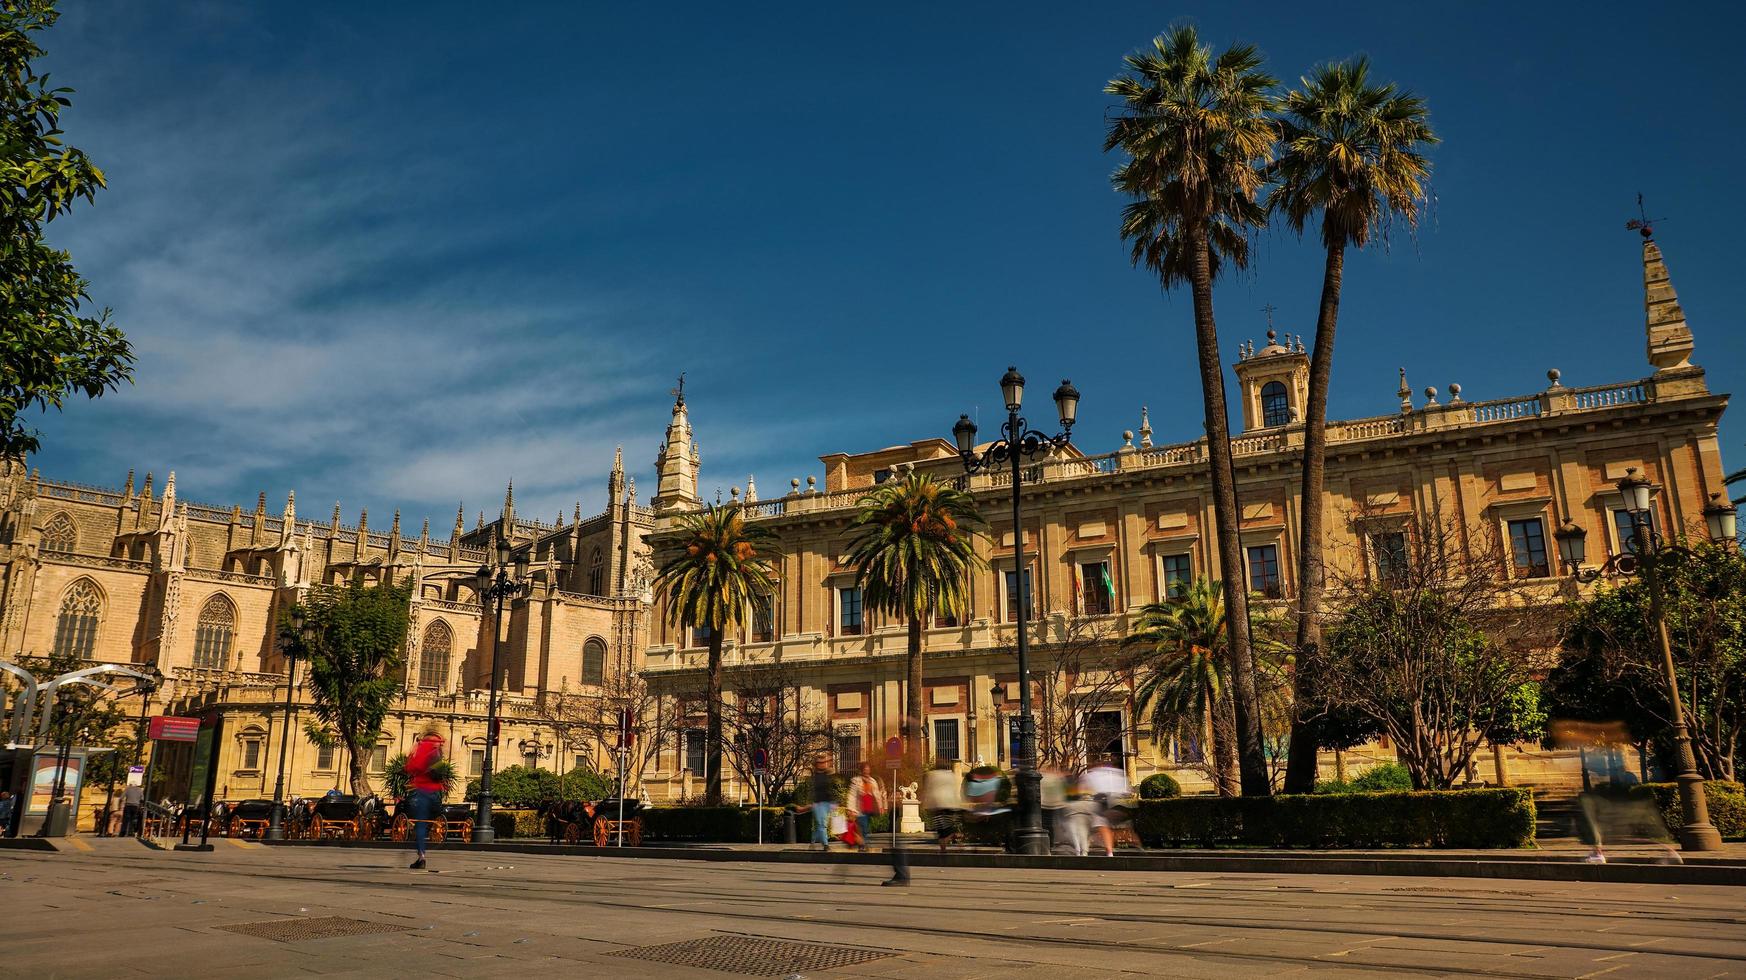
[[[281,624],[288,643],[304,643],[311,713],[346,749],[351,791],[358,797],[370,795],[368,749],[402,692],[410,597],[410,578],[402,585],[360,580],[323,585],[306,599],[307,641],[288,622]]]

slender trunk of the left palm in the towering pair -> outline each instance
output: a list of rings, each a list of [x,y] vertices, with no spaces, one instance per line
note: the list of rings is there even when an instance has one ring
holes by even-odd
[[[1224,564],[1224,622],[1229,632],[1231,688],[1236,711],[1238,770],[1245,797],[1266,797],[1268,756],[1261,741],[1261,704],[1255,695],[1255,664],[1248,650],[1248,590],[1243,583],[1243,549],[1238,538],[1236,475],[1231,468],[1231,424],[1224,404],[1224,362],[1219,327],[1212,314],[1212,259],[1206,250],[1206,218],[1189,220],[1189,253],[1194,262],[1194,346],[1200,355],[1201,402],[1206,407],[1206,456],[1212,463],[1212,508],[1219,557]]]

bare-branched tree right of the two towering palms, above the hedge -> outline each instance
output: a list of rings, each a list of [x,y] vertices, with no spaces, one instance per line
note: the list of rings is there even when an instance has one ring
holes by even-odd
[[[1435,514],[1360,514],[1351,529],[1369,561],[1329,562],[1318,709],[1372,718],[1416,786],[1446,790],[1533,680],[1533,597],[1495,529]]]

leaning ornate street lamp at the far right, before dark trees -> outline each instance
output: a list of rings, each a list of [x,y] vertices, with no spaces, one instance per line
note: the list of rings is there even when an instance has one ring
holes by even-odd
[[[1641,575],[1648,585],[1648,610],[1655,624],[1655,638],[1660,645],[1660,667],[1667,683],[1667,702],[1673,706],[1673,742],[1674,763],[1680,767],[1680,807],[1685,812],[1685,826],[1680,828],[1680,845],[1687,851],[1718,851],[1722,835],[1709,823],[1709,802],[1704,793],[1704,777],[1697,774],[1697,756],[1692,753],[1692,734],[1685,725],[1685,704],[1680,700],[1680,674],[1673,666],[1673,643],[1667,639],[1667,620],[1662,615],[1660,599],[1660,562],[1666,557],[1690,557],[1692,550],[1662,542],[1650,524],[1652,486],[1636,475],[1636,466],[1626,470],[1619,480],[1619,493],[1626,498],[1626,512],[1631,515],[1631,542],[1622,550],[1606,559],[1599,568],[1582,568],[1587,554],[1587,531],[1571,521],[1552,531],[1557,542],[1557,557],[1564,562],[1577,582],[1594,582],[1601,575]],[[1704,508],[1704,524],[1709,540],[1722,547],[1734,543],[1736,515],[1734,507],[1722,503],[1722,494],[1709,496]]]

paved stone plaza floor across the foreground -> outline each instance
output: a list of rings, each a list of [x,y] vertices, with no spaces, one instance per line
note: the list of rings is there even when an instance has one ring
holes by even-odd
[[[1746,977],[1746,889],[127,840],[0,852],[9,977]]]

